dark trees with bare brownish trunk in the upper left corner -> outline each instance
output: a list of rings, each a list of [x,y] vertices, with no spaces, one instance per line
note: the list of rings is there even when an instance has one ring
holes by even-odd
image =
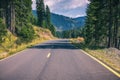
[[[13,0],[1,0],[0,1],[0,18],[3,19],[7,28],[14,33],[15,25],[14,25],[14,16],[15,8],[13,5]]]

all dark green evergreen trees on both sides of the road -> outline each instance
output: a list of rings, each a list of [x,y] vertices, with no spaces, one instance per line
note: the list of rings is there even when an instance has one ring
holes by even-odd
[[[37,0],[37,18],[32,14],[31,0],[0,1],[0,42],[7,30],[19,37],[18,42],[34,38],[32,25],[49,29],[56,36],[50,21],[49,6]],[[63,38],[82,36],[88,47],[114,47],[120,49],[120,0],[90,0],[86,23],[82,29],[63,31]]]

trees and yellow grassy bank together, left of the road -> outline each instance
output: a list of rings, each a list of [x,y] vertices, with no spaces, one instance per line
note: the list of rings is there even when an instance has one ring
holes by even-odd
[[[0,59],[54,38],[49,6],[37,1],[37,17],[32,14],[32,0],[0,1]]]

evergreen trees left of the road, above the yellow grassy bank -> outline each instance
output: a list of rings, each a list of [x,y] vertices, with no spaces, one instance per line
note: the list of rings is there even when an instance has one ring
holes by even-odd
[[[55,28],[50,23],[49,7],[44,7],[43,0],[37,0],[38,20],[36,20],[32,15],[31,5],[32,0],[0,1],[0,42],[4,41],[3,36],[7,30],[19,37],[18,42],[31,41],[34,38],[32,25],[48,28],[55,34]]]

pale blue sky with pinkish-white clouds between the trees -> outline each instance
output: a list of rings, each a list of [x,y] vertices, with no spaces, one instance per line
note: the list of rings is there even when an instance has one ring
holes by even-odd
[[[32,9],[36,9],[36,0],[32,0]],[[90,3],[88,0],[44,0],[45,5],[50,7],[52,13],[68,16],[86,16],[86,8]]]

